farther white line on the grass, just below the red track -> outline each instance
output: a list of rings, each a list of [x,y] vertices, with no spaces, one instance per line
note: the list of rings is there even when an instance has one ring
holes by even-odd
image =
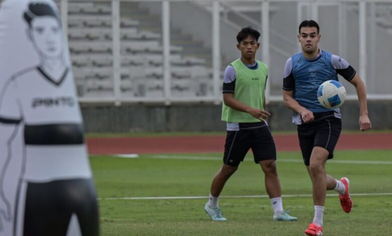
[[[147,158],[152,159],[175,159],[175,160],[202,160],[202,161],[222,161],[220,157],[197,157],[197,156],[169,156],[169,155],[151,155]],[[244,161],[253,161],[252,159],[245,159]],[[277,162],[295,162],[303,163],[299,159],[277,159]],[[362,164],[362,165],[392,165],[392,161],[348,161],[348,160],[329,160],[332,164]]]

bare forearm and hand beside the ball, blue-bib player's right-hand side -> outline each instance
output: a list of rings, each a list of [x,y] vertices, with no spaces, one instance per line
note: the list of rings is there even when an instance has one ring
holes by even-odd
[[[359,129],[366,131],[371,129],[370,119],[367,115],[367,101],[366,101],[366,87],[362,79],[356,73],[354,77],[349,81],[355,86],[357,96],[359,100]]]

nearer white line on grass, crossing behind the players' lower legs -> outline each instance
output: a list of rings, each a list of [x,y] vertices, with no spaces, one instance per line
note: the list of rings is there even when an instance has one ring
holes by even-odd
[[[338,194],[327,194],[327,197]],[[392,196],[392,193],[350,193],[350,196]],[[268,198],[268,195],[220,196],[220,198]],[[282,197],[312,197],[312,194],[286,194]],[[165,200],[165,199],[207,199],[209,196],[179,196],[179,197],[102,197],[99,200]]]

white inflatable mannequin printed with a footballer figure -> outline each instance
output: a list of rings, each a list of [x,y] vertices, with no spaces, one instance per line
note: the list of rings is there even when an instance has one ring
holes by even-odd
[[[58,11],[0,12],[0,235],[99,235],[96,193]]]

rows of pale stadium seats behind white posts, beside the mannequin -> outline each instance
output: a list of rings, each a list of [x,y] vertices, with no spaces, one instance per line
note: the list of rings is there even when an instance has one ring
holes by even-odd
[[[68,3],[68,41],[80,97],[99,100],[114,95],[112,10],[110,3]],[[142,30],[139,21],[120,18],[120,77],[122,97],[164,95],[162,36]],[[184,55],[170,46],[171,95],[197,97],[212,94],[212,69],[205,59]]]

